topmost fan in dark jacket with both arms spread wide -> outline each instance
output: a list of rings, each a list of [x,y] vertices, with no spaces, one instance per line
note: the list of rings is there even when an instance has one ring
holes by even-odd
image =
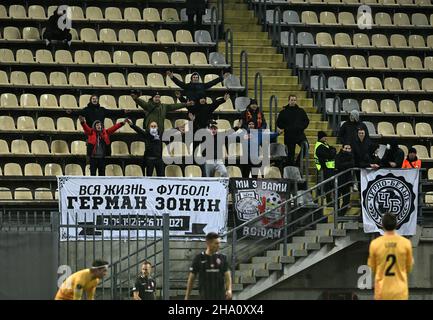
[[[206,90],[212,88],[214,85],[223,82],[230,74],[226,72],[224,76],[220,76],[212,81],[203,83],[200,82],[200,75],[198,72],[193,72],[191,74],[191,82],[185,83],[173,75],[173,72],[167,71],[167,76],[173,80],[173,82],[184,90],[184,95],[187,100],[194,101],[198,104],[200,99],[206,98]]]

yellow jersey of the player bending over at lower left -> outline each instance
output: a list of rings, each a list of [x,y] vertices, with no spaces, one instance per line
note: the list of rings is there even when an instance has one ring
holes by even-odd
[[[95,298],[98,278],[94,278],[90,269],[84,269],[71,274],[60,286],[55,300],[81,300],[86,292],[87,300]]]

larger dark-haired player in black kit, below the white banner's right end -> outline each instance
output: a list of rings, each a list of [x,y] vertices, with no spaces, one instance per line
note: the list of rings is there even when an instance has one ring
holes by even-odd
[[[206,251],[196,255],[189,268],[185,300],[189,299],[197,274],[201,300],[231,300],[231,273],[227,257],[218,252],[220,242],[217,233],[206,235]]]

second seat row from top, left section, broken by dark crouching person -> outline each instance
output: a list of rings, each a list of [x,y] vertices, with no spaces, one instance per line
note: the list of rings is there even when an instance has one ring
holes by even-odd
[[[41,40],[41,32],[35,27],[24,27],[22,31],[17,27],[4,27],[2,32],[0,32],[0,39],[4,40]],[[194,40],[192,38],[191,32],[188,30],[177,30],[176,34],[170,30],[161,29],[156,31],[150,29],[140,29],[137,32],[131,29],[120,29],[118,35],[114,29],[103,28],[98,33],[93,28],[82,28],[80,30],[80,36],[78,36],[78,31],[74,28],[71,29],[72,40],[99,43],[146,43],[146,44],[212,44],[210,33],[207,30],[197,30],[194,32]],[[22,37],[21,37],[22,36]]]

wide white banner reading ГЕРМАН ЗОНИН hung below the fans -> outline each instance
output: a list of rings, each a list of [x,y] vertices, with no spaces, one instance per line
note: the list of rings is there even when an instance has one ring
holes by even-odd
[[[227,178],[58,177],[60,239],[160,237],[203,239],[227,226]],[[69,226],[69,227],[67,227]]]

